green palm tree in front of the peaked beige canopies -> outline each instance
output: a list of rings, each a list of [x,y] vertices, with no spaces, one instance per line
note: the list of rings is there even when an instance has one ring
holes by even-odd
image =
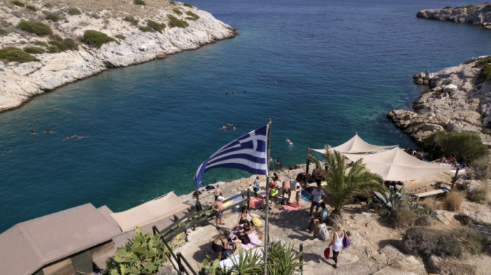
[[[323,177],[328,182],[328,189],[334,204],[332,214],[341,215],[341,208],[358,194],[366,194],[368,197],[370,197],[369,191],[386,194],[384,185],[379,183],[382,181],[382,177],[371,173],[365,164],[361,163],[362,159],[358,159],[347,171],[348,168],[341,153],[335,151],[332,154],[326,147],[325,158],[327,159],[327,170],[314,156],[309,156],[309,159],[321,170]]]

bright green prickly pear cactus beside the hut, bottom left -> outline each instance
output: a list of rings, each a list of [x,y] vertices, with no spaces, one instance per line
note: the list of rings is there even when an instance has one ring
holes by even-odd
[[[167,262],[168,254],[159,236],[152,236],[152,232],[142,235],[140,228],[135,228],[129,243],[119,247],[117,254],[106,261],[107,269],[103,274],[156,274],[162,263]]]

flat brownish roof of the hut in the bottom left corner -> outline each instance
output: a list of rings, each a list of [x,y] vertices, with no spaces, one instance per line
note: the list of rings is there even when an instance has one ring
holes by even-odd
[[[111,240],[121,230],[87,203],[15,224],[0,235],[1,274],[33,274],[46,264]]]

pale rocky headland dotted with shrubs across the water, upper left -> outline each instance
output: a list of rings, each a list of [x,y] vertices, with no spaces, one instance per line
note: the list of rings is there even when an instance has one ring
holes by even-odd
[[[0,55],[0,112],[109,67],[165,58],[236,35],[234,28],[190,4],[145,1],[0,1],[0,51],[34,48],[31,55],[38,60],[9,62]],[[19,28],[21,20],[42,22],[53,34],[26,32]],[[99,48],[84,43],[86,30],[114,41]],[[75,43],[73,50],[62,45],[67,41]]]

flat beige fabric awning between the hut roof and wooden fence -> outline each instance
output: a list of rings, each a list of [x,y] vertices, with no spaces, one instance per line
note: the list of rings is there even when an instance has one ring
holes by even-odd
[[[142,227],[145,224],[161,220],[168,215],[173,215],[187,207],[188,205],[182,203],[174,192],[170,192],[140,206],[113,213],[111,216],[116,220],[123,232],[128,232],[135,227]]]

